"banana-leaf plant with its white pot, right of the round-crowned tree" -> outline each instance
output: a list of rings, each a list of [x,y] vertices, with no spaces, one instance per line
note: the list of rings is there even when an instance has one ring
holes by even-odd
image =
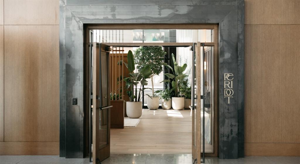
[[[180,84],[184,78],[187,78],[188,75],[184,74],[183,72],[187,68],[187,64],[183,64],[179,66],[175,60],[174,54],[172,54],[174,70],[173,68],[168,65],[167,63],[163,63],[164,66],[168,66],[172,73],[165,73],[168,78],[171,80],[164,80],[162,82],[171,82],[172,87],[174,89],[174,97],[172,97],[172,108],[174,110],[182,110],[184,108],[184,96],[180,94]]]

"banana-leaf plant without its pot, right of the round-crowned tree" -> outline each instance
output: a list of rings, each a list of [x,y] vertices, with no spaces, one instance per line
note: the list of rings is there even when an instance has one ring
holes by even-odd
[[[165,73],[164,75],[166,75],[170,79],[161,81],[161,83],[162,82],[171,82],[172,87],[173,87],[174,92],[175,92],[174,96],[175,97],[182,97],[182,95],[180,94],[180,84],[181,84],[181,81],[184,78],[188,77],[188,75],[183,73],[185,71],[185,69],[187,68],[187,64],[183,64],[182,66],[179,66],[178,63],[175,60],[175,57],[174,57],[173,53],[172,53],[172,58],[173,58],[174,70],[167,63],[163,63],[163,66],[169,67],[169,69],[171,70],[172,73]]]

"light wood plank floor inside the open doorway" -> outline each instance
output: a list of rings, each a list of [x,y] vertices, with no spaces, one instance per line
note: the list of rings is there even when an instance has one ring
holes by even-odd
[[[137,127],[111,129],[111,154],[191,154],[190,110],[148,110]]]

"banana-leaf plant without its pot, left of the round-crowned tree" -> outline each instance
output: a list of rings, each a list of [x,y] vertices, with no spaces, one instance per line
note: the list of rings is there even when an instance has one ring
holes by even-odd
[[[124,63],[125,66],[129,70],[129,74],[128,74],[129,77],[123,78],[123,80],[126,82],[125,88],[128,89],[128,91],[126,91],[126,93],[129,96],[130,102],[139,102],[143,98],[143,95],[142,95],[143,90],[150,89],[150,88],[143,88],[143,86],[148,85],[148,81],[146,79],[150,78],[153,73],[151,72],[151,68],[149,66],[146,66],[145,68],[143,68],[141,72],[134,72],[135,63],[134,63],[134,56],[133,56],[131,50],[128,51],[127,60],[128,60],[128,63],[125,63],[124,61],[122,61],[122,63]],[[139,83],[141,83],[141,85],[140,85],[139,91],[138,91]]]

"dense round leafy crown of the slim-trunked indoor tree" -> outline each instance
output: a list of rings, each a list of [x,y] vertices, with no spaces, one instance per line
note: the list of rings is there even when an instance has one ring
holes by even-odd
[[[134,51],[134,61],[139,72],[149,66],[153,75],[158,75],[163,71],[165,54],[162,47],[140,47]]]

